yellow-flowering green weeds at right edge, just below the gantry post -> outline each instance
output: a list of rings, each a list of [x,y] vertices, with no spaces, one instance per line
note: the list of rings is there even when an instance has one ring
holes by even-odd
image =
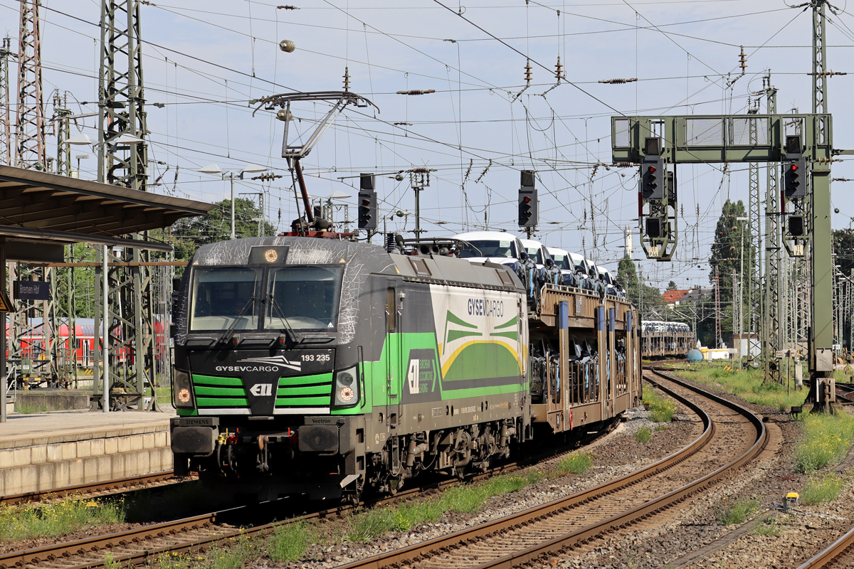
[[[854,436],[854,417],[807,413],[798,423],[803,431],[794,453],[798,472],[811,473],[845,458]]]

